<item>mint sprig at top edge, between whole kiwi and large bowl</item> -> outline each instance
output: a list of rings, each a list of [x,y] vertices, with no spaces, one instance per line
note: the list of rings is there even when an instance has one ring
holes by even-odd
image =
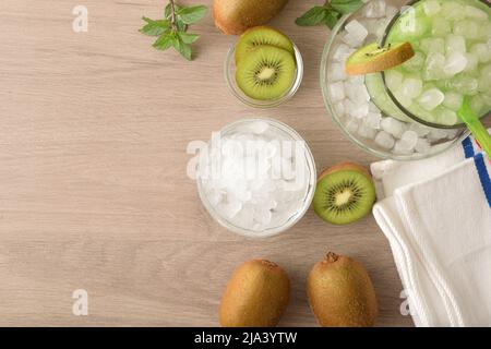
[[[362,5],[361,0],[327,0],[324,5],[313,7],[303,13],[295,23],[300,26],[325,24],[332,29],[344,14],[352,13]]]

